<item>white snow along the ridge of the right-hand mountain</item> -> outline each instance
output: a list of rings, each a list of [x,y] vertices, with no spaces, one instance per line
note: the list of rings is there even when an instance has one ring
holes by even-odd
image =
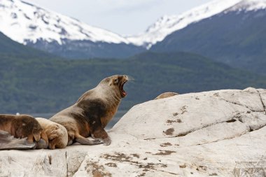
[[[215,0],[180,15],[165,15],[148,27],[144,34],[128,36],[127,40],[135,45],[146,45],[146,48],[151,48],[152,45],[162,41],[174,31],[208,17],[219,13],[228,13],[230,10],[257,10],[260,8],[266,8],[265,0]]]

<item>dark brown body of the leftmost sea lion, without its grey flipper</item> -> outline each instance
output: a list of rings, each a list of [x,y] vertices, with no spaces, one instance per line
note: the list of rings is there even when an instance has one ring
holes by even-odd
[[[41,139],[42,128],[35,118],[30,115],[0,115],[0,130],[8,132],[17,139],[27,137],[29,143]]]

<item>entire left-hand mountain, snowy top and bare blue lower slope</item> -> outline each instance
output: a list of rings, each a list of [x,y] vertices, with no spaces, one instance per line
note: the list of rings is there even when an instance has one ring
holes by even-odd
[[[144,50],[111,31],[20,0],[0,1],[0,31],[19,43],[69,58],[127,57]]]

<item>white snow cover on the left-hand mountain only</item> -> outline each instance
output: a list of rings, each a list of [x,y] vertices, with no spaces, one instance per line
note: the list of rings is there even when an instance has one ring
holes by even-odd
[[[36,43],[38,39],[57,41],[59,44],[62,44],[62,39],[128,43],[125,38],[111,31],[91,27],[20,0],[0,0],[0,31],[24,44],[29,41]]]

